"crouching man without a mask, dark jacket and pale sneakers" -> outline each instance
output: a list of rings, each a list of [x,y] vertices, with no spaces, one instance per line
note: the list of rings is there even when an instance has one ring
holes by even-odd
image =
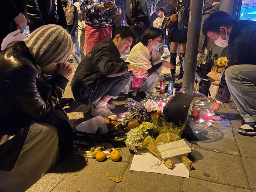
[[[118,27],[113,39],[107,38],[95,45],[77,67],[71,89],[75,100],[90,105],[91,116],[117,118],[110,111],[115,105],[108,101],[117,98],[129,82],[128,71],[141,70],[120,58],[135,39],[131,28]]]

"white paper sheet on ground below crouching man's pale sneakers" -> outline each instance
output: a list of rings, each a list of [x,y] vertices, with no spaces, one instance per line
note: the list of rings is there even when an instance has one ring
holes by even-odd
[[[89,119],[83,123],[80,123],[76,126],[77,131],[87,132],[87,133],[96,133],[97,129],[101,127],[101,133],[107,133],[108,128],[102,116],[97,116],[92,119]]]

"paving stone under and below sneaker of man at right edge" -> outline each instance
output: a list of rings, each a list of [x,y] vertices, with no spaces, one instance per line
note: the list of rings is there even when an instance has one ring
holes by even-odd
[[[256,136],[248,137],[240,135],[237,129],[242,125],[241,120],[231,120],[233,132],[235,134],[236,142],[242,157],[249,157],[256,159]]]

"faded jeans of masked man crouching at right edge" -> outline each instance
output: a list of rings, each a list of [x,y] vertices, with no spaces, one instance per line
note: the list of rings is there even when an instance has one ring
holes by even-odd
[[[256,122],[256,65],[228,67],[225,70],[225,80],[245,122]]]

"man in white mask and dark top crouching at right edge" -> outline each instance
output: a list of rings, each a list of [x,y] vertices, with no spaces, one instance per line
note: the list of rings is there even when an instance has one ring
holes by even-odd
[[[219,83],[212,104],[218,111],[229,92],[245,124],[238,133],[256,135],[256,25],[254,21],[235,20],[228,13],[217,11],[205,20],[203,34],[207,34],[221,47],[228,46],[229,62]]]

